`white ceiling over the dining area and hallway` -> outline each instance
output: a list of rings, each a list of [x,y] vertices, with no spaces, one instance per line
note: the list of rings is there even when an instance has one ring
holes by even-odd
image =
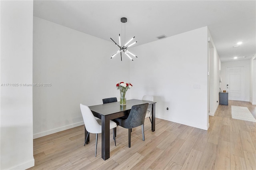
[[[208,26],[221,61],[256,53],[255,0],[34,0],[34,16],[107,41],[118,41],[126,17],[126,40],[136,45]]]

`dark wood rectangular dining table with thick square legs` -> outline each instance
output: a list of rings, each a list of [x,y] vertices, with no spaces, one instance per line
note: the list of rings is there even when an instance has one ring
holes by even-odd
[[[106,103],[102,105],[89,106],[95,117],[101,119],[102,125],[102,151],[101,157],[103,160],[110,158],[110,127],[109,122],[111,119],[116,119],[130,113],[133,105],[140,105],[148,103],[148,108],[152,109],[152,132],[155,131],[155,110],[156,102],[131,99],[126,101],[126,105],[120,105],[120,102]],[[87,131],[86,131],[87,133]],[[90,140],[88,138],[87,142]]]

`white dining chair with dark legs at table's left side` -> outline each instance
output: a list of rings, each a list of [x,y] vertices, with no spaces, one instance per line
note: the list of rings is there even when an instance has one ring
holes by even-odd
[[[102,132],[101,131],[101,119],[98,119],[98,118],[94,117],[94,115],[92,114],[92,111],[86,105],[80,104],[80,109],[81,109],[82,116],[83,116],[83,119],[84,119],[84,128],[86,128],[86,130],[88,132],[87,135],[84,134],[84,137],[86,135],[86,138],[84,140],[84,146],[86,144],[89,133],[95,133],[96,134],[95,157],[96,157],[98,133]],[[115,137],[116,135],[115,135],[115,132],[114,132],[114,128],[116,127],[116,123],[113,122],[113,121],[110,121],[109,127],[110,127],[110,129],[113,129],[113,138],[114,138],[115,146],[116,146],[116,137]]]

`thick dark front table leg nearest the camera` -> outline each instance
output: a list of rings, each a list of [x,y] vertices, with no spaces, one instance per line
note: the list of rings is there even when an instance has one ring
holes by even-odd
[[[101,117],[101,129],[102,129],[102,144],[101,144],[101,157],[103,160],[107,160],[110,157],[110,142],[109,142],[109,119],[108,117]]]

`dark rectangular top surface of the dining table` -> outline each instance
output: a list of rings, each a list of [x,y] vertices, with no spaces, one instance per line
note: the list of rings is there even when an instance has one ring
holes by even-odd
[[[146,100],[138,100],[138,99],[130,99],[126,101],[126,105],[120,105],[120,101],[112,102],[112,103],[105,103],[101,105],[94,105],[89,106],[91,111],[99,113],[100,115],[110,115],[113,113],[124,112],[132,109],[133,105],[140,105],[143,103],[148,103],[152,105],[156,102],[154,101],[146,101]]]

